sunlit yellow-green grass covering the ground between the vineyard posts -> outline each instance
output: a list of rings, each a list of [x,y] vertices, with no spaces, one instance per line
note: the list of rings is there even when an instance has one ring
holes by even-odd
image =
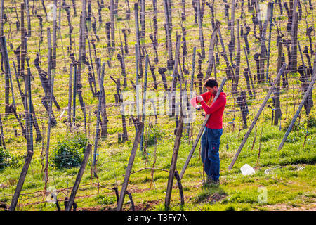
[[[77,1],[79,4],[79,2]],[[178,3],[178,1],[176,1]],[[9,4],[7,2],[6,4]],[[39,7],[39,6],[38,6]],[[120,20],[121,16],[124,18],[124,4],[119,4],[119,17],[117,21],[119,22],[120,29],[126,26],[124,20]],[[180,17],[178,17],[177,5],[174,6],[173,11],[173,45],[176,40],[176,31],[180,33]],[[80,8],[79,6],[77,8]],[[131,6],[132,8],[132,6]],[[159,2],[159,31],[158,31],[158,41],[159,41],[159,63],[157,63],[156,68],[166,66],[167,53],[164,49],[164,11],[162,3]],[[179,7],[178,7],[179,8]],[[222,22],[221,31],[225,44],[228,44],[230,40],[230,31],[226,29],[227,23],[223,16],[222,5],[216,4],[216,18]],[[19,9],[19,7],[18,7]],[[97,15],[97,6],[93,2],[93,13]],[[303,8],[305,10],[305,8]],[[77,10],[79,14],[80,10]],[[147,11],[152,11],[152,4],[147,3]],[[206,8],[205,18],[204,18],[204,39],[206,46],[206,58],[207,51],[209,49],[209,39],[211,38],[211,13],[209,9]],[[277,9],[275,11],[278,13]],[[305,11],[303,11],[305,12]],[[237,8],[237,15],[240,15],[240,8]],[[109,20],[108,8],[103,8],[103,21]],[[13,23],[15,22],[15,13],[11,12],[11,29],[15,28]],[[20,15],[20,14],[18,14]],[[43,11],[41,15],[44,17]],[[62,11],[61,20],[61,33],[62,33],[62,43],[61,39],[58,39],[58,68],[55,75],[55,89],[54,93],[60,103],[60,107],[65,109],[67,107],[67,89],[68,89],[68,76],[69,76],[69,65],[70,58],[67,54],[67,46],[69,45],[68,40],[68,28],[67,19],[65,17],[65,11]],[[246,10],[246,23],[251,24],[251,14]],[[276,14],[277,15],[277,14]],[[303,14],[305,15],[305,14]],[[307,14],[307,21],[309,25],[312,25],[312,13]],[[146,16],[146,27],[147,33],[152,32],[152,14]],[[287,18],[277,17],[279,28],[284,32],[284,39],[289,39],[289,34],[285,31],[285,26],[287,23]],[[79,49],[79,15],[77,17],[72,17],[72,23],[74,25],[74,36],[75,36],[75,49],[78,52]],[[32,100],[34,103],[35,111],[37,112],[37,117],[39,121],[39,127],[46,134],[48,117],[46,111],[41,105],[41,97],[44,96],[44,91],[41,88],[37,70],[34,68],[33,61],[35,54],[37,52],[41,53],[41,65],[42,69],[46,70],[46,55],[47,55],[47,40],[46,40],[46,28],[51,27],[52,23],[44,19],[44,42],[39,48],[39,24],[36,18],[32,18],[32,31],[33,36],[28,39],[28,55],[30,60],[30,67],[34,80],[32,81]],[[191,2],[187,1],[187,21],[185,22],[185,27],[187,29],[187,47],[188,56],[186,62],[187,70],[191,69],[190,62],[192,61],[192,49],[197,46],[197,51],[199,51],[199,41],[198,41],[198,26],[194,23],[194,12],[191,6]],[[98,24],[97,24],[98,27]],[[118,27],[118,26],[117,26]],[[133,46],[136,42],[135,29],[133,24],[133,11],[131,13],[131,34],[129,34],[129,50],[130,53],[126,56],[126,73],[129,79],[134,79],[135,77],[135,59],[134,59],[134,49]],[[8,23],[5,25],[5,34],[9,32]],[[299,23],[298,39],[303,44],[308,45],[308,39],[305,36],[305,19],[301,20]],[[98,35],[101,39],[97,43],[97,55],[100,56],[103,62],[106,62],[109,58],[107,56],[107,38],[105,33],[105,24],[101,25],[97,29]],[[119,37],[119,33],[121,37]],[[117,30],[116,32],[117,43],[119,38],[123,40],[123,35]],[[276,75],[276,63],[277,63],[277,45],[276,45],[277,32],[274,28],[272,31],[272,42],[271,42],[271,58],[270,58],[270,76],[273,78]],[[243,39],[242,45],[244,44]],[[14,49],[8,49],[9,56],[11,60],[15,60],[13,50],[15,50],[20,44],[20,33],[12,31],[10,38],[7,39],[8,43],[12,43]],[[254,39],[253,30],[249,35],[249,42],[251,45],[251,56],[249,60],[251,63],[251,74],[256,75],[256,63],[254,62],[252,55],[259,51],[259,41]],[[62,45],[63,44],[63,45]],[[147,51],[150,55],[150,60],[153,62],[154,51],[152,50],[152,44],[148,35],[145,38],[145,44],[147,46]],[[173,46],[174,49],[175,46]],[[88,49],[88,48],[87,48]],[[220,46],[218,46],[220,50]],[[226,49],[228,51],[228,49]],[[114,57],[119,53],[117,50],[112,56],[112,68],[107,68],[105,71],[105,94],[107,103],[109,105],[114,105],[114,93],[116,89],[114,82],[110,79],[110,75],[116,78],[121,78],[119,62],[114,60]],[[284,53],[287,58],[287,51],[284,48]],[[65,55],[65,58],[64,58]],[[235,59],[235,58],[234,58]],[[313,59],[313,58],[312,58]],[[64,61],[65,60],[65,61]],[[225,63],[223,58],[220,58],[220,64],[217,66],[217,77],[219,80],[225,77]],[[246,67],[246,58],[242,53],[242,64],[241,64],[241,74],[242,68]],[[300,61],[300,60],[298,60]],[[197,62],[196,62],[197,63]],[[63,72],[62,67],[66,65],[68,72]],[[12,67],[13,68],[13,67]],[[11,71],[13,69],[11,68]],[[198,73],[198,68],[196,65],[195,75]],[[202,61],[202,72],[206,71],[207,59]],[[156,70],[157,71],[157,70]],[[87,68],[84,68],[84,74],[81,76],[83,83],[83,96],[86,103],[87,112],[90,113],[88,116],[88,130],[86,136],[89,138],[89,142],[93,143],[94,132],[96,127],[96,117],[93,112],[96,110],[96,105],[98,105],[98,99],[93,98],[91,91],[88,87],[87,79]],[[171,71],[167,74],[172,75]],[[157,80],[160,81],[158,72],[156,72]],[[4,89],[4,75],[2,74],[0,88]],[[14,77],[14,76],[13,76]],[[167,75],[169,84],[171,84],[171,76]],[[153,80],[151,75],[149,76],[149,89],[153,87]],[[185,79],[190,80],[190,75],[185,75]],[[22,81],[22,79],[21,79]],[[141,80],[143,82],[143,79]],[[17,111],[19,113],[23,112],[22,101],[18,95],[18,87],[15,85],[15,78],[13,79],[13,88],[15,91],[15,97],[17,98]],[[188,82],[190,84],[190,82]],[[187,168],[185,176],[183,176],[183,191],[185,196],[185,205],[180,205],[180,195],[178,193],[178,188],[173,189],[173,195],[171,198],[171,210],[315,210],[315,160],[316,160],[316,143],[315,143],[315,109],[310,113],[311,121],[310,127],[307,129],[307,118],[305,118],[305,110],[301,114],[299,120],[299,125],[297,122],[296,129],[291,132],[284,148],[277,151],[277,147],[284,136],[284,131],[286,130],[291,117],[293,117],[298,103],[301,101],[303,94],[299,89],[301,82],[298,82],[297,74],[289,74],[289,89],[282,89],[281,99],[282,99],[282,119],[281,119],[281,130],[279,126],[271,126],[271,110],[265,108],[261,117],[258,120],[256,129],[251,132],[246,145],[244,146],[242,153],[235,166],[228,170],[228,166],[232,158],[235,155],[239,144],[241,143],[246,129],[240,129],[241,115],[239,108],[235,105],[232,94],[230,93],[230,84],[228,82],[225,86],[225,92],[228,94],[228,105],[224,114],[223,129],[224,133],[221,138],[220,144],[220,185],[219,186],[203,186],[203,169],[202,162],[199,157],[199,150],[195,151],[192,156],[190,165]],[[246,87],[246,82],[244,78],[239,79],[239,85],[243,89]],[[162,82],[159,82],[159,90],[163,90]],[[249,105],[249,115],[248,115],[248,125],[254,119],[258,108],[260,107],[263,98],[265,97],[266,90],[268,86],[265,84],[257,85],[256,99],[248,99]],[[126,90],[132,90],[131,85],[126,88]],[[195,85],[195,90],[198,90]],[[3,91],[1,92],[3,93]],[[0,95],[1,103],[4,103],[4,94]],[[315,98],[315,94],[314,94]],[[77,101],[79,105],[79,101]],[[272,105],[272,99],[268,101],[268,105]],[[67,127],[63,120],[64,117],[59,117],[62,113],[55,110],[55,116],[58,118],[58,124],[51,131],[51,151],[57,146],[58,141],[61,141],[67,135]],[[1,113],[4,113],[4,107],[1,107]],[[119,108],[109,107],[107,108],[107,113],[109,117],[109,127],[107,139],[102,139],[98,146],[98,180],[92,176],[91,172],[91,159],[88,162],[84,177],[81,180],[81,187],[77,192],[76,203],[79,210],[114,210],[116,207],[116,197],[112,188],[118,186],[119,191],[124,180],[124,174],[126,170],[126,165],[129,160],[129,155],[131,153],[131,147],[133,146],[133,138],[135,136],[135,129],[133,124],[128,123],[128,134],[129,141],[126,143],[117,143],[117,133],[122,132],[121,126],[121,115],[119,115]],[[2,114],[1,114],[2,116]],[[83,115],[81,110],[77,108],[77,121],[80,122],[81,127],[79,127],[78,132],[84,134],[83,126]],[[313,118],[313,119],[312,119]],[[129,119],[129,117],[128,117]],[[18,129],[20,133],[20,127],[18,122],[15,120],[13,115],[2,116],[4,123],[4,136],[6,138],[6,148],[12,155],[18,158],[19,165],[12,167],[5,167],[0,170],[0,201],[10,204],[11,195],[15,191],[15,187],[20,176],[20,171],[22,169],[22,164],[25,160],[26,153],[26,141],[22,136],[14,136],[14,130]],[[197,121],[195,121],[193,126],[191,141],[189,143],[187,131],[183,131],[183,138],[180,143],[178,164],[177,168],[180,171],[182,169],[184,162],[187,158],[187,154],[192,146],[192,140],[195,139],[197,131],[202,124],[203,117],[198,113]],[[150,129],[149,123],[154,124],[154,117],[147,117],[145,127],[145,136],[149,136]],[[235,128],[232,127],[231,122],[235,123]],[[154,158],[156,162],[154,167],[164,170],[169,170],[171,164],[171,155],[174,143],[173,130],[175,128],[174,118],[161,115],[158,117],[158,125],[154,126],[158,133],[161,134],[161,138],[158,140],[155,146],[147,146],[145,152],[141,153],[138,151],[136,159],[133,165],[133,174],[131,174],[131,179],[129,182],[129,191],[133,195],[133,201],[136,205],[136,210],[164,210],[164,198],[166,191],[166,183],[168,180],[168,173],[163,170],[154,170],[154,175],[152,176],[151,169],[144,169],[137,172],[140,169],[146,167],[152,167]],[[254,140],[256,137],[256,140]],[[254,146],[253,146],[254,143]],[[198,145],[199,147],[199,145]],[[49,195],[41,195],[41,191],[44,190],[43,181],[43,160],[41,151],[45,149],[44,143],[34,143],[34,157],[32,159],[31,166],[29,167],[29,172],[23,186],[22,195],[20,196],[20,202],[17,210],[56,210],[56,206],[52,203]],[[258,159],[258,150],[260,152],[260,158]],[[91,155],[92,156],[92,155]],[[256,167],[256,174],[251,176],[244,176],[241,174],[239,168],[244,164],[249,164],[251,167]],[[58,169],[52,163],[48,168],[48,190],[53,192],[57,190],[58,200],[60,200],[60,206],[63,208],[63,200],[65,196],[70,196],[71,188],[76,179],[79,167]],[[126,195],[124,210],[130,210],[131,203]]]

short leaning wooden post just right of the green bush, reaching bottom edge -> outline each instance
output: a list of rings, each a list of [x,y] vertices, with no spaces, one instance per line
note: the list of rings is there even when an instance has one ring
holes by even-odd
[[[86,146],[86,150],[84,151],[84,160],[81,163],[76,181],[74,181],[74,186],[72,187],[72,193],[70,194],[70,198],[65,207],[65,211],[70,211],[72,208],[72,205],[74,204],[74,198],[76,197],[76,193],[78,191],[80,181],[82,179],[82,176],[84,175],[84,169],[86,168],[86,164],[88,163],[88,158],[91,152],[91,148],[92,148],[92,145],[88,143],[88,146]]]

